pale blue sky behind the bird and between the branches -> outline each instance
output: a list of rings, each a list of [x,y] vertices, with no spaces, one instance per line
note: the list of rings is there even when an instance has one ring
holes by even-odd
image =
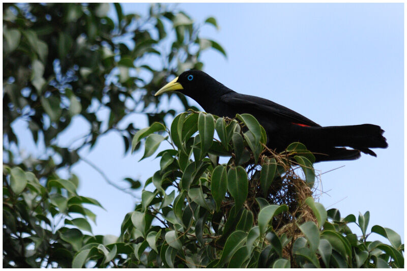
[[[318,190],[325,193],[315,194],[326,208],[338,208],[342,217],[357,217],[358,212],[369,210],[369,231],[378,224],[404,238],[403,4],[176,6],[195,22],[209,16],[217,19],[219,31],[205,25],[200,37],[221,44],[227,58],[207,50],[201,61],[205,72],[229,88],[272,100],[322,126],[371,123],[386,131],[389,147],[374,149],[377,158],[362,154],[355,161],[315,164],[317,173],[341,167],[321,176]],[[149,4],[122,3],[122,7],[125,14],[142,15],[147,14]],[[115,17],[112,7],[109,14]],[[177,113],[182,108],[171,101],[162,106],[171,106]],[[136,115],[130,122],[140,128],[147,126],[146,118]],[[26,126],[23,122],[13,124],[17,134],[23,134]],[[59,142],[70,142],[83,134],[79,132],[83,126],[83,120],[76,119]],[[27,149],[30,140],[25,140]],[[125,177],[139,178],[143,183],[159,169],[155,156],[137,162],[142,152],[124,156],[123,150],[121,136],[108,133],[91,152],[80,154],[122,186],[126,186]],[[137,199],[106,184],[84,162],[77,163],[73,172],[80,179],[79,194],[99,200],[106,209],[90,207],[97,214],[93,233],[119,235],[123,218]],[[141,190],[138,192],[141,195]],[[356,231],[355,226],[351,228]],[[370,240],[374,239],[380,238],[374,235]]]

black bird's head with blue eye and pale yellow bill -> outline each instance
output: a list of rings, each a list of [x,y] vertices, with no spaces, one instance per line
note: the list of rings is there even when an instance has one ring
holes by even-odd
[[[190,70],[161,87],[155,96],[177,91],[199,102],[200,98],[213,95],[212,92],[219,92],[222,87],[224,86],[221,83],[205,72]]]

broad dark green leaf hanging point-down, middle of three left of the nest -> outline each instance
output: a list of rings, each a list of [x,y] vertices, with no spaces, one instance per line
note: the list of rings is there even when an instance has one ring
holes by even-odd
[[[249,180],[246,170],[238,166],[230,168],[227,172],[227,190],[235,199],[236,210],[239,210],[245,202],[248,195]]]

